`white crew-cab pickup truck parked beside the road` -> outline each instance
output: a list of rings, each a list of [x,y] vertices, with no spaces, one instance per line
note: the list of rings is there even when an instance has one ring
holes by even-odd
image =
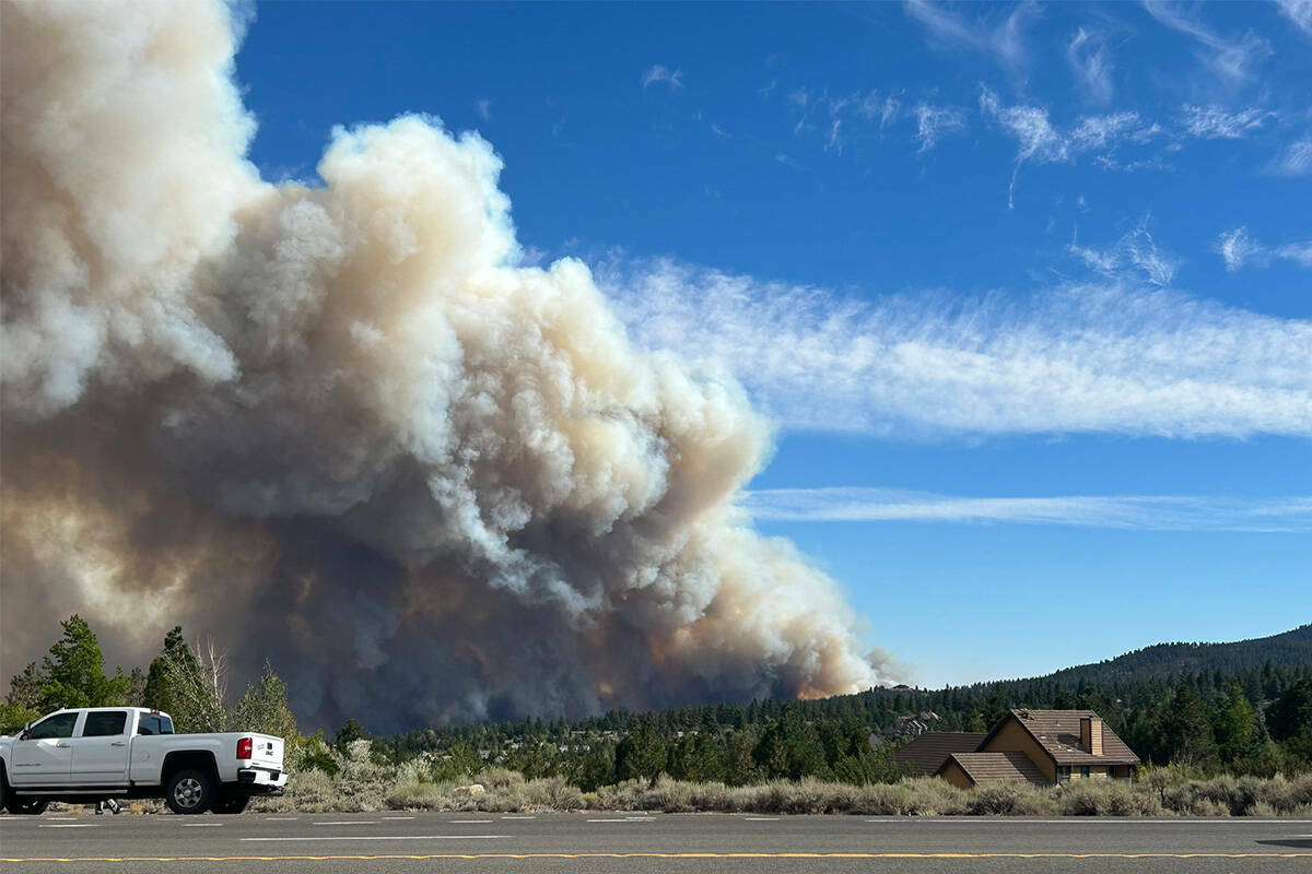
[[[51,801],[163,798],[174,814],[240,814],[281,794],[282,738],[249,731],[173,734],[143,708],[56,710],[0,736],[0,806],[39,814]]]

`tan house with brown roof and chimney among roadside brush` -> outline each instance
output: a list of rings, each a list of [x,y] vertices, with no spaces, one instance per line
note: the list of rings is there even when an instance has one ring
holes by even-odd
[[[926,731],[893,757],[962,789],[998,781],[1128,781],[1139,765],[1139,756],[1093,710],[1012,710],[983,738]]]

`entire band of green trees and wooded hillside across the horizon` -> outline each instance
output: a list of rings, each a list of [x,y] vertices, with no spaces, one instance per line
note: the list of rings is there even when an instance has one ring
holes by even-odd
[[[1090,709],[1152,765],[1197,774],[1305,772],[1312,763],[1312,626],[1223,645],[1147,647],[1094,666],[967,687],[874,688],[813,701],[765,700],[586,719],[433,726],[370,736],[350,719],[302,735],[286,684],[266,664],[230,704],[222,653],[164,638],[147,670],[104,672],[84,620],[41,664],[10,680],[0,731],[60,706],[143,705],[173,714],[180,731],[241,729],[289,738],[298,769],[335,774],[358,740],[392,767],[422,761],[433,780],[463,780],[488,767],[527,778],[559,777],[585,791],[627,780],[748,785],[815,777],[842,784],[905,776],[892,755],[907,721],[945,731],[985,731],[1010,708]],[[1263,643],[1271,642],[1270,656]],[[367,715],[367,714],[361,714]]]

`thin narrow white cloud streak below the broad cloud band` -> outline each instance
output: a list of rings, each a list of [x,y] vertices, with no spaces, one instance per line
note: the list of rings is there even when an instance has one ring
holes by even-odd
[[[937,522],[1140,531],[1312,533],[1312,497],[1057,495],[979,498],[901,489],[769,489],[743,497],[758,520]]]

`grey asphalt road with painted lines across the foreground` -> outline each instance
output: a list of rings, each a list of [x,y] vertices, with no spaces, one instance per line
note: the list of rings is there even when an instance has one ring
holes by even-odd
[[[1312,820],[630,814],[0,816],[7,871],[1312,871]]]

